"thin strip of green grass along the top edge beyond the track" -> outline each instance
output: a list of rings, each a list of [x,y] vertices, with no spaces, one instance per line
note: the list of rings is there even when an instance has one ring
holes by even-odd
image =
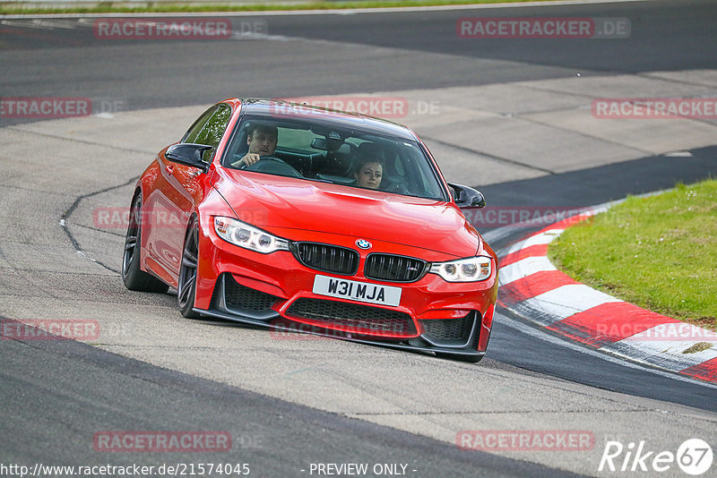
[[[128,0],[129,1],[129,0]],[[141,0],[139,0],[141,1]],[[42,13],[200,13],[200,12],[269,12],[278,10],[345,10],[353,8],[396,8],[402,6],[439,6],[463,4],[513,4],[529,2],[531,0],[387,0],[378,2],[368,0],[365,2],[325,1],[289,4],[151,4],[151,6],[115,6],[113,2],[103,2],[92,7],[70,8],[25,8],[16,6],[0,6],[1,15],[42,14]],[[549,2],[551,0],[540,0]]]

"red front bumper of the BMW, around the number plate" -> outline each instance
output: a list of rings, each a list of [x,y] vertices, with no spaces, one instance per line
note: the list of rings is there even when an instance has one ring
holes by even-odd
[[[223,241],[212,229],[203,231],[195,312],[284,332],[441,354],[479,357],[488,346],[497,298],[495,264],[491,277],[478,283],[448,283],[430,273],[410,283],[382,282],[363,276],[364,252],[359,252],[358,270],[347,277],[308,268],[292,252],[252,252]],[[342,247],[355,240],[315,234],[301,240],[308,239]],[[426,258],[425,250],[374,245],[373,252]],[[429,261],[451,259],[430,254]],[[315,294],[317,275],[399,286],[401,301],[383,306]]]

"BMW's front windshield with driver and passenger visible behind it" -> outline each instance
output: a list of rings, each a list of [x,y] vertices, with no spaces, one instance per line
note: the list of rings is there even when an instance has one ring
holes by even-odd
[[[261,159],[248,164],[247,153]],[[326,121],[245,115],[222,166],[446,201],[418,142]]]

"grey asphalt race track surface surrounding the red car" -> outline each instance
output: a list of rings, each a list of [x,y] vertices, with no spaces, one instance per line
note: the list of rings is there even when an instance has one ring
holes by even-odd
[[[457,19],[484,16],[620,18],[631,33],[458,38]],[[717,3],[226,18],[233,38],[194,41],[95,38],[93,20],[76,17],[0,21],[2,98],[107,107],[0,118],[0,319],[94,320],[101,330],[86,343],[0,341],[0,475],[19,475],[2,468],[12,464],[224,463],[289,477],[363,463],[368,476],[652,476],[599,471],[608,442],[674,454],[701,439],[715,449],[717,387],[567,342],[505,310],[478,365],[183,319],[175,295],[125,290],[125,230],[93,214],[126,207],[152,155],[232,96],[405,98],[411,110],[396,120],[494,208],[592,206],[715,175],[714,118],[596,122],[585,106],[600,95],[717,97]],[[242,34],[250,24],[260,34]],[[479,229],[500,251],[540,227]],[[456,446],[475,430],[584,431],[593,442]],[[111,453],[93,442],[106,431],[222,431],[232,444]],[[659,475],[686,474],[673,463]]]

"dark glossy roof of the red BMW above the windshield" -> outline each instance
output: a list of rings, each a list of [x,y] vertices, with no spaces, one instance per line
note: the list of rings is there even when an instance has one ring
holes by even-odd
[[[281,99],[239,98],[242,114],[261,115],[272,118],[305,119],[337,128],[359,128],[365,132],[387,135],[397,139],[417,141],[416,135],[402,124],[396,124],[373,116],[336,109],[291,103]]]

